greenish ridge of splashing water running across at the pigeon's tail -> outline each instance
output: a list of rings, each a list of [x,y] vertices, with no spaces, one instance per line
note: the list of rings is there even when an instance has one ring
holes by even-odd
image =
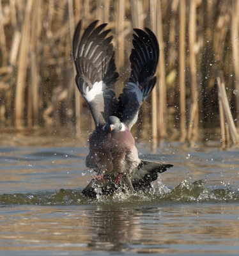
[[[96,199],[81,195],[78,190],[60,189],[56,192],[41,192],[36,194],[18,193],[0,195],[0,205],[85,205],[85,204],[114,204],[118,202],[137,204],[138,202],[239,202],[239,191],[231,188],[209,189],[205,180],[189,182],[183,180],[176,188],[167,188],[160,179],[153,182],[152,190],[146,192],[129,191],[127,187],[119,187],[112,195],[100,195],[96,186]]]

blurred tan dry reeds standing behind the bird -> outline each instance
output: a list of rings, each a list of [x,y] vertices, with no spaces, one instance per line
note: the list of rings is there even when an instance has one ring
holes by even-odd
[[[157,88],[144,102],[135,137],[229,140],[218,81],[239,118],[238,0],[0,0],[0,132],[89,134],[93,122],[75,86],[77,22],[112,29],[120,93],[130,73],[132,28],[160,44]],[[223,125],[226,124],[226,128]],[[229,124],[230,125],[230,124]],[[230,130],[230,129],[229,129]],[[227,132],[227,133],[226,133]]]

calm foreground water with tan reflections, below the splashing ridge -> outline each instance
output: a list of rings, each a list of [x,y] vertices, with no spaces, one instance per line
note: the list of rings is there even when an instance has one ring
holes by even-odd
[[[233,204],[2,208],[1,250],[239,252],[238,213]]]

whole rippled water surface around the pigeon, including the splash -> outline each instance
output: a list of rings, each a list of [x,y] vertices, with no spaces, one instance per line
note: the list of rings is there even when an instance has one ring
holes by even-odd
[[[238,254],[238,149],[147,146],[174,164],[155,192],[97,200],[79,193],[88,148],[0,148],[0,255]]]

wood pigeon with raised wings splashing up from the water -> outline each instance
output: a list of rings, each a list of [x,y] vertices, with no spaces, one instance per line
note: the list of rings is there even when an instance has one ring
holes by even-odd
[[[148,29],[134,29],[130,54],[130,77],[123,92],[116,97],[111,88],[118,80],[111,29],[107,24],[92,22],[82,33],[79,22],[73,36],[73,59],[77,75],[75,82],[88,103],[95,122],[89,136],[86,166],[96,173],[95,181],[103,188],[117,188],[121,182],[129,189],[145,189],[171,164],[139,159],[130,130],[138,118],[139,108],[153,90],[159,59],[157,37]],[[95,195],[92,184],[84,195]]]

